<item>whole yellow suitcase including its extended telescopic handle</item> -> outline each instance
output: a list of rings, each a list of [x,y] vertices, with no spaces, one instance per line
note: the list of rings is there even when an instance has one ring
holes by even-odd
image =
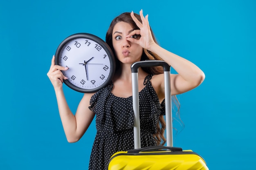
[[[138,68],[163,66],[167,146],[140,146]],[[108,162],[108,170],[209,170],[202,157],[192,150],[173,147],[170,66],[164,61],[135,62],[132,70],[132,105],[134,110],[133,150],[116,152]]]

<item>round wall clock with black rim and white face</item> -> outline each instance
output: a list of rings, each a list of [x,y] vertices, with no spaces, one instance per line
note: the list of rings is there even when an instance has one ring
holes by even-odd
[[[55,64],[68,67],[62,71],[64,83],[75,91],[92,93],[107,86],[115,72],[115,57],[101,38],[89,33],[76,33],[58,46]]]

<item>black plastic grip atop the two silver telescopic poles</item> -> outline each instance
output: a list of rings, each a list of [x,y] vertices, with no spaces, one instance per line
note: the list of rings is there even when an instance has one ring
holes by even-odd
[[[135,62],[131,66],[132,73],[138,73],[139,67],[163,66],[164,71],[170,71],[170,66],[162,60],[146,60]]]

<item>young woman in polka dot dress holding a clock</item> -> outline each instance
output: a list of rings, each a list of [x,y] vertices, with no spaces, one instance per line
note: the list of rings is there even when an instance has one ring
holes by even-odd
[[[170,74],[172,95],[178,95],[199,86],[204,73],[192,62],[160,47],[150,29],[148,15],[142,10],[122,13],[110,24],[106,42],[117,60],[117,70],[112,82],[96,93],[85,93],[76,114],[73,115],[63,93],[61,70],[68,68],[54,64],[47,73],[58,102],[59,114],[69,142],[78,141],[96,115],[97,135],[90,157],[90,170],[103,170],[117,151],[134,147],[132,110],[132,63],[142,60],[164,60],[177,71]],[[141,147],[160,144],[165,139],[159,129],[164,129],[164,74],[161,67],[139,68],[139,99],[141,121]],[[163,130],[162,129],[162,130]]]

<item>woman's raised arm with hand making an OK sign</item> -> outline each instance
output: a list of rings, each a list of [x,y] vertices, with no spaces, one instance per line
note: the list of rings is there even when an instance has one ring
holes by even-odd
[[[204,80],[204,73],[198,66],[192,62],[174,54],[166,49],[163,49],[153,40],[152,33],[150,31],[150,26],[148,22],[148,15],[144,18],[142,10],[139,12],[141,17],[141,22],[135,18],[133,12],[131,17],[134,22],[139,27],[139,30],[132,31],[126,36],[127,40],[130,42],[137,43],[141,45],[144,49],[152,51],[153,53],[159,55],[164,61],[166,61],[171,67],[177,71],[178,74],[171,74],[171,91],[172,95],[177,95],[189,91],[197,86],[199,86]],[[139,40],[130,38],[134,34],[141,35]],[[164,75],[155,75],[152,77],[153,86],[157,90],[157,94],[162,97],[164,94]]]

